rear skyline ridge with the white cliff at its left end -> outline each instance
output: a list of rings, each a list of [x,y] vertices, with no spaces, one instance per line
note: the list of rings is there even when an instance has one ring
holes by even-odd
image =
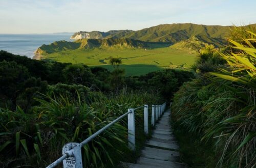
[[[250,26],[256,27],[256,24]],[[139,31],[109,31],[109,32],[78,32],[73,39],[106,39],[106,38],[130,38],[147,42],[168,42],[175,44],[184,40],[197,38],[203,43],[212,43],[220,46],[225,43],[225,38],[232,26],[203,25],[193,23],[160,24]]]

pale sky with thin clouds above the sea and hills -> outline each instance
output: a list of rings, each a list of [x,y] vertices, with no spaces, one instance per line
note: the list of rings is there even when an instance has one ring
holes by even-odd
[[[256,0],[0,0],[0,34],[256,23]]]

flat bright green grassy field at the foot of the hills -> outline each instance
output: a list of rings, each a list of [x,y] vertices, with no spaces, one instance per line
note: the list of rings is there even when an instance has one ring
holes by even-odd
[[[169,47],[155,49],[76,49],[44,54],[44,58],[58,62],[84,63],[88,66],[102,66],[109,70],[109,57],[122,58],[121,68],[126,75],[142,75],[161,68],[189,68],[196,60],[195,51]]]

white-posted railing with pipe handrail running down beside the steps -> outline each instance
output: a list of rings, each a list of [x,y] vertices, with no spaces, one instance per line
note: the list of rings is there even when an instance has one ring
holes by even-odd
[[[160,105],[144,105],[136,108],[129,108],[127,113],[123,114],[122,116],[118,117],[111,123],[107,124],[87,139],[84,139],[81,143],[68,143],[62,148],[62,156],[55,160],[52,164],[47,166],[47,168],[52,168],[57,166],[59,163],[63,163],[63,167],[82,167],[82,155],[81,155],[81,147],[92,141],[97,135],[102,133],[104,130],[111,127],[113,124],[121,120],[122,118],[128,118],[128,146],[131,150],[135,151],[135,110],[144,107],[144,133],[148,134],[148,107],[152,107],[152,117],[151,117],[151,125],[155,126],[156,121],[160,118],[163,114],[166,103]]]

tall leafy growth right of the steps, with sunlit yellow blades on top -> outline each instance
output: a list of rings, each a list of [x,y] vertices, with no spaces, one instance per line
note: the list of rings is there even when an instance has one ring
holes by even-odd
[[[219,167],[255,163],[255,32],[240,31],[237,37],[229,40],[229,50],[217,55],[225,65],[185,83],[174,97],[175,121],[199,135],[202,143],[215,146]],[[197,67],[207,69],[205,62],[216,56],[210,50],[204,54]]]

